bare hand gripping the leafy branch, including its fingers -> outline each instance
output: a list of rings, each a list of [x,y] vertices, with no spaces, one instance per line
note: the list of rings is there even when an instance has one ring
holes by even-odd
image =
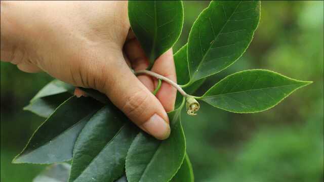
[[[127,1],[1,1],[1,60],[97,89],[155,138],[170,135],[167,112],[177,91],[163,82],[154,96],[157,80],[132,73],[147,68],[148,59],[130,30]],[[151,71],[176,82],[172,49]]]

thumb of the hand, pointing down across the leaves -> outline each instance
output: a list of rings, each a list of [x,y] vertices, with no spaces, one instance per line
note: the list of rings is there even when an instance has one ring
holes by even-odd
[[[114,69],[107,72],[102,91],[141,129],[156,139],[167,139],[170,125],[164,107],[130,70],[122,54],[113,62],[116,65],[110,65]]]

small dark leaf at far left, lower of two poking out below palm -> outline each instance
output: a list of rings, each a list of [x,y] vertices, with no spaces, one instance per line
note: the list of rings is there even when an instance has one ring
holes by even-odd
[[[49,117],[57,107],[71,97],[71,94],[64,92],[60,94],[50,95],[35,99],[24,110],[30,111],[41,117]]]

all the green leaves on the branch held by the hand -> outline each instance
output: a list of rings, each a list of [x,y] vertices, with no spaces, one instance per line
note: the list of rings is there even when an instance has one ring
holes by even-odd
[[[174,55],[177,80],[187,94],[244,54],[259,23],[260,6],[260,1],[212,1],[201,12],[188,42]],[[129,19],[152,65],[181,34],[182,2],[130,1]],[[225,77],[203,96],[192,97],[226,111],[254,113],[275,106],[309,83],[269,70],[245,70]],[[170,138],[158,141],[97,90],[81,88],[90,97],[76,98],[73,89],[54,80],[24,108],[47,119],[14,163],[71,160],[71,166],[65,167],[69,182],[194,180],[181,126],[186,98],[177,95],[176,109],[168,113]]]

